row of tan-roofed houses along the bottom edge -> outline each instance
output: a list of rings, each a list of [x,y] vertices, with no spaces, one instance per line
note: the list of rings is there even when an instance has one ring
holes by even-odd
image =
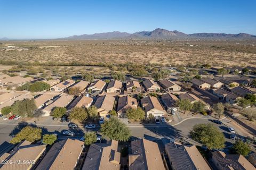
[[[242,155],[226,155],[222,151],[212,152],[211,164],[201,155],[196,146],[182,145],[180,142],[163,140],[164,150],[158,144],[147,139],[131,141],[127,167],[130,170],[210,170],[210,169],[255,169],[255,154],[250,155],[250,162]],[[87,151],[85,160],[82,156],[84,142],[65,139],[54,143],[47,151],[46,145],[31,144],[23,141],[10,152],[0,156],[1,169],[75,169],[82,170],[119,170],[126,163],[121,161],[118,141],[93,143]],[[166,157],[165,157],[166,155]],[[169,162],[169,164],[167,164]],[[253,166],[253,165],[254,166]],[[79,167],[78,167],[79,166]]]

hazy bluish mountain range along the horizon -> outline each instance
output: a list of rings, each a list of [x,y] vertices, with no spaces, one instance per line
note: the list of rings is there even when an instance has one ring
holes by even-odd
[[[186,38],[237,38],[237,39],[252,39],[256,38],[254,35],[247,33],[238,33],[238,34],[227,34],[227,33],[193,33],[186,34],[179,32],[177,30],[169,31],[161,28],[157,28],[153,31],[139,31],[134,33],[127,32],[103,32],[103,33],[94,33],[92,35],[74,35],[66,38],[67,40],[82,40],[82,39],[186,39]]]

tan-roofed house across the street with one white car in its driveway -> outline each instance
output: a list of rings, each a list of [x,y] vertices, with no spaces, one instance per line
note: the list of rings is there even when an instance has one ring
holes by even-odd
[[[115,97],[105,95],[98,97],[94,106],[98,108],[99,116],[107,116],[108,113],[113,110],[114,103]]]

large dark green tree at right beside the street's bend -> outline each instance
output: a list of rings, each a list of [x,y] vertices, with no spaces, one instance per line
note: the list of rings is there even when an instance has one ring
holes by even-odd
[[[193,140],[201,142],[210,150],[224,148],[224,135],[212,124],[196,124],[189,133]]]

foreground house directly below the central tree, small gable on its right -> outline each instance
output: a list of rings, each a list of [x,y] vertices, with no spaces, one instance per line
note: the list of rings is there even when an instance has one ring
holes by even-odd
[[[86,155],[82,170],[119,170],[121,153],[118,141],[93,143]]]

